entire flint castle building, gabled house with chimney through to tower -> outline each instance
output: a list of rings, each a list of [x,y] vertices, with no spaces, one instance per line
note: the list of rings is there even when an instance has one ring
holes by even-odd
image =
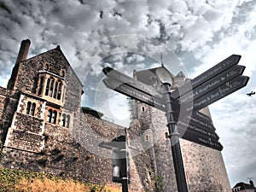
[[[7,88],[0,87],[1,166],[113,185],[110,151],[103,151],[105,158],[81,143],[86,140],[97,151],[102,149],[96,135],[106,141],[126,135],[131,150],[129,188],[154,191],[157,184],[163,191],[177,191],[164,113],[131,101],[133,119],[128,131],[101,119],[102,113],[81,107],[83,84],[60,46],[27,59],[29,46],[30,40],[21,42]],[[157,88],[155,70],[146,79],[146,71],[136,72],[134,78]],[[183,73],[172,78],[176,85],[184,80]],[[181,143],[189,191],[231,190],[221,152]]]

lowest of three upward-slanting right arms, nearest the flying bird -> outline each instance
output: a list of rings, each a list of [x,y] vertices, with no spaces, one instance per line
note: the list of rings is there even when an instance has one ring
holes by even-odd
[[[230,80],[229,82],[219,86],[218,88],[210,91],[205,96],[196,99],[193,103],[192,107],[188,107],[186,110],[200,110],[201,108],[205,108],[208,105],[212,104],[212,102],[217,102],[219,99],[224,96],[228,96],[236,90],[241,89],[242,87],[247,85],[249,78],[247,76],[239,76],[235,79]]]

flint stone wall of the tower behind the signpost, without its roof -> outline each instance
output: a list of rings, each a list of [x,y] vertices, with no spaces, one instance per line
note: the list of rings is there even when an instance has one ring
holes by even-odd
[[[140,104],[138,105],[140,108]],[[136,121],[134,119],[134,121]],[[172,162],[170,141],[166,138],[166,116],[155,108],[148,107],[140,115],[140,134],[152,134],[154,147],[149,148],[152,167],[164,184],[164,191],[177,191],[176,177]],[[148,131],[147,131],[148,129]],[[136,128],[133,131],[139,135]],[[228,192],[230,182],[220,151],[180,139],[185,174],[191,192]],[[145,147],[145,145],[144,145]],[[154,153],[152,153],[154,150]]]

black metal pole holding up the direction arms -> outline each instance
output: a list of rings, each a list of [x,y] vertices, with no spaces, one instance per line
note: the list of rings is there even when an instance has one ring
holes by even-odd
[[[184,172],[183,157],[181,154],[179,136],[176,128],[176,121],[174,121],[173,118],[174,111],[172,110],[171,84],[164,83],[164,89],[164,94],[166,96],[165,99],[167,127],[169,131],[169,137],[171,140],[173,165],[177,180],[177,191],[189,192]]]

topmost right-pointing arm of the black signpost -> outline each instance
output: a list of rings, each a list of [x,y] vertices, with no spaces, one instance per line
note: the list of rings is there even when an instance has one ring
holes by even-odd
[[[188,83],[179,87],[177,90],[173,91],[172,98],[177,99],[179,96],[183,96],[184,94],[195,89],[201,84],[206,83],[208,80],[212,79],[219,73],[222,73],[228,68],[236,65],[240,61],[240,59],[241,59],[241,55],[230,55],[224,61],[219,62],[217,65],[208,69],[206,72],[201,73],[201,75],[197,76],[195,79],[192,79]]]

